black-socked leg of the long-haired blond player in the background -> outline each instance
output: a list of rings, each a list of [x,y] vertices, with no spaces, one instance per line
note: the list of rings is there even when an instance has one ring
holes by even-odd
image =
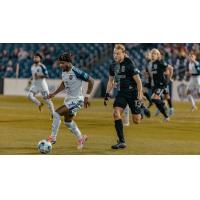
[[[169,116],[166,113],[165,103],[161,100],[161,95],[163,93],[162,89],[155,89],[152,95],[152,102],[156,105],[156,107],[160,110],[160,112],[164,115],[164,121],[169,120]]]

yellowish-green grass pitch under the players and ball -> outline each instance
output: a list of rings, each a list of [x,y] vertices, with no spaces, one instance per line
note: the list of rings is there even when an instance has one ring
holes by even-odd
[[[55,107],[63,99],[54,99]],[[105,108],[102,99],[92,100],[89,109],[82,109],[76,122],[89,140],[82,151],[76,150],[76,140],[61,124],[56,145],[51,154],[200,154],[200,111],[191,113],[188,103],[176,103],[169,123],[161,116],[144,119],[140,125],[125,127],[128,147],[112,150],[116,142],[112,119],[112,102]],[[0,96],[0,154],[39,154],[37,143],[51,133],[47,107],[39,113],[25,97]],[[155,108],[152,108],[152,112]]]

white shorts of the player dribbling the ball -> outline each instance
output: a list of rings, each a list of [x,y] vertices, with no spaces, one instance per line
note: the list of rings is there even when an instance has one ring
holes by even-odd
[[[69,115],[76,116],[77,112],[83,107],[84,101],[79,98],[65,98],[64,104],[69,109]]]

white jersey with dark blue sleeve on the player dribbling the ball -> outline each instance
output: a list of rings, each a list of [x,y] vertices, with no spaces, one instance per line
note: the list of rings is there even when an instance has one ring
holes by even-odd
[[[68,72],[62,72],[62,80],[65,85],[67,98],[78,98],[83,100],[83,81],[88,82],[89,75],[76,67]]]

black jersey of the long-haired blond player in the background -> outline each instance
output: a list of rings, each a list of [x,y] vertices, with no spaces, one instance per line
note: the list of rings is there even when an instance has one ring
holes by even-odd
[[[154,87],[156,88],[164,88],[167,86],[169,79],[164,74],[167,69],[168,64],[163,60],[156,60],[152,63],[152,77]]]

